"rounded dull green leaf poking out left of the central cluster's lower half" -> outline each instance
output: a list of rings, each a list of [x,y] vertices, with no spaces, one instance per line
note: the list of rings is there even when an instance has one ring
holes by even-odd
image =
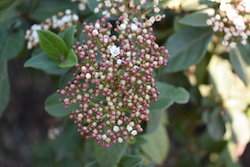
[[[69,115],[71,111],[76,110],[78,104],[72,104],[67,109],[64,108],[64,103],[60,102],[60,98],[65,98],[65,96],[58,93],[54,93],[49,96],[45,101],[45,110],[53,116],[61,117]]]

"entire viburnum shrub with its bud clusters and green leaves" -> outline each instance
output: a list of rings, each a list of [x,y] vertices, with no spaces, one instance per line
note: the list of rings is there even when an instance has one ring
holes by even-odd
[[[34,148],[36,166],[240,166],[249,2],[4,0],[0,111],[19,55],[55,81],[45,110],[61,124]]]

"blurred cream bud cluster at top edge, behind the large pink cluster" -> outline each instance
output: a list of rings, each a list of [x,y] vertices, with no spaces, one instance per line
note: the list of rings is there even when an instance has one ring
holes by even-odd
[[[140,0],[138,4],[135,0],[97,0],[98,7],[95,8],[95,13],[102,12],[106,17],[123,16],[124,18],[133,20],[137,23],[141,19],[145,26],[152,26],[155,21],[160,21],[165,17],[164,14],[159,14],[159,0],[153,0],[151,8],[148,8],[147,0]],[[147,18],[147,15],[152,16]]]

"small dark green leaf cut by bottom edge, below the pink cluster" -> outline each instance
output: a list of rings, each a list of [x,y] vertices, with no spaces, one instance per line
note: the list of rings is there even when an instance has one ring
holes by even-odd
[[[119,162],[119,167],[138,167],[143,158],[139,155],[125,155]]]

